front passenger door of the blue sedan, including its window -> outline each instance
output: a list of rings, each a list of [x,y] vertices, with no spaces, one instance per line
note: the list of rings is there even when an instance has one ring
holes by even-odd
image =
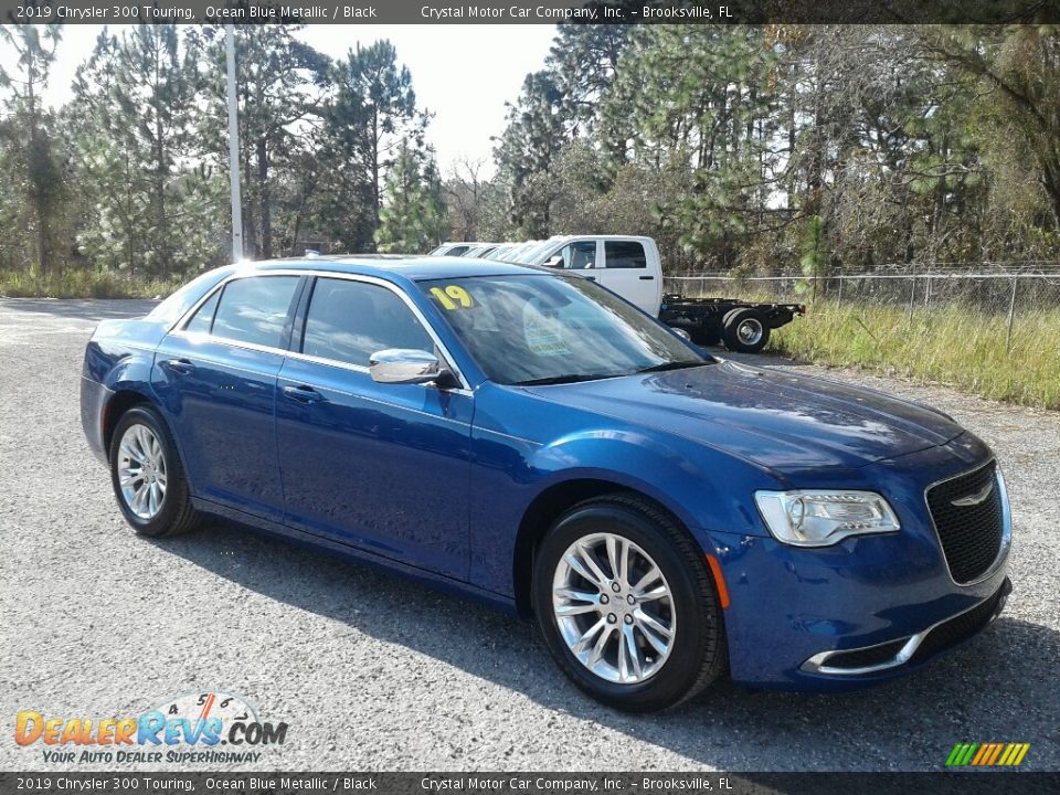
[[[474,398],[372,380],[377,351],[436,350],[396,286],[321,276],[304,304],[276,404],[287,522],[466,579]]]

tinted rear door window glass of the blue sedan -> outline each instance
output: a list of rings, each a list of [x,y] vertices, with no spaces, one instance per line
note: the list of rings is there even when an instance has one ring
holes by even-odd
[[[297,276],[255,276],[230,282],[213,319],[213,335],[279,348]]]

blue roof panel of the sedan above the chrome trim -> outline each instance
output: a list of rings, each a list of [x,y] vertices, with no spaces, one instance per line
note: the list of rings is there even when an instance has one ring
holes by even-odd
[[[251,263],[261,271],[333,271],[335,273],[386,276],[399,274],[413,282],[467,276],[511,276],[540,274],[543,268],[494,259],[425,256],[407,254],[342,254],[337,256],[292,257]]]

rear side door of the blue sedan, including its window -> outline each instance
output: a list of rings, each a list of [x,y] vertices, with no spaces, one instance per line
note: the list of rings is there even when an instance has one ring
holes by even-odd
[[[293,275],[225,283],[162,340],[152,371],[192,492],[274,521],[276,375],[300,286]]]

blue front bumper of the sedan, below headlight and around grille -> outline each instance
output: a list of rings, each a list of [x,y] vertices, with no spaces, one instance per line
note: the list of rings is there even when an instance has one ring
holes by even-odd
[[[968,460],[950,445],[936,447],[878,463],[858,474],[859,484],[841,484],[883,494],[899,516],[897,533],[818,549],[706,533],[704,550],[721,564],[730,595],[724,618],[733,680],[849,689],[919,668],[993,622],[1011,591],[1007,500],[995,564],[962,585],[950,576],[924,497],[926,483],[965,473],[989,455],[985,447],[974,453]]]

